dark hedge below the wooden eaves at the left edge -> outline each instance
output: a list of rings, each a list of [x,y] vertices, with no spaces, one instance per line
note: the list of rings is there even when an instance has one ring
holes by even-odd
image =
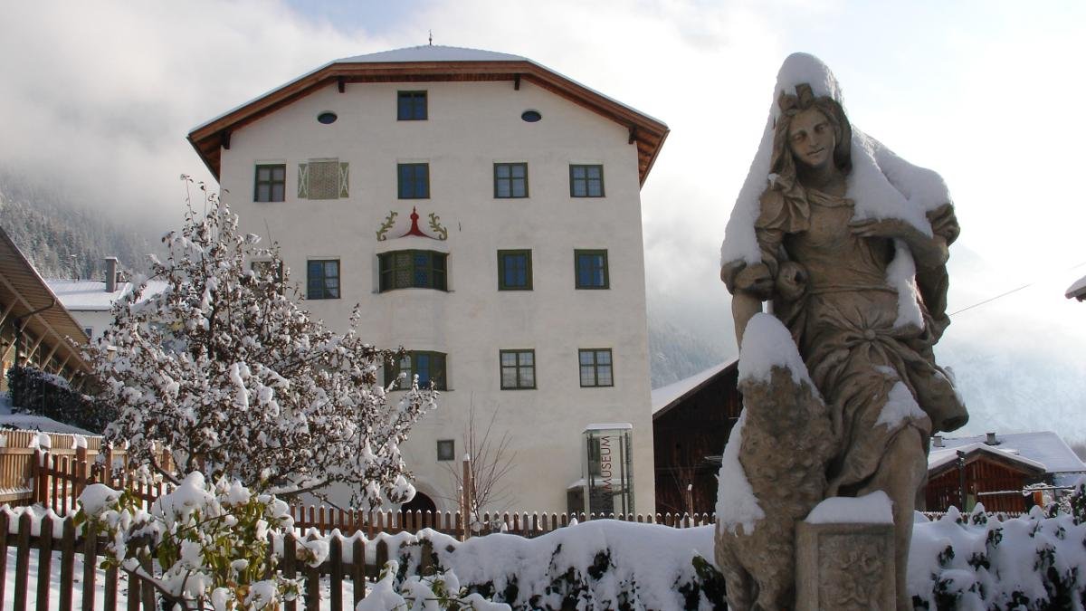
[[[8,370],[8,386],[16,409],[91,433],[101,433],[117,416],[117,410],[76,392],[63,377],[34,367]]]

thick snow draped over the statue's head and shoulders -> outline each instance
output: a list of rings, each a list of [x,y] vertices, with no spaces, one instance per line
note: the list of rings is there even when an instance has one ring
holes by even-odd
[[[768,188],[794,187],[796,169],[788,127],[795,116],[809,109],[822,113],[833,126],[833,162],[847,177],[846,195],[856,203],[857,219],[902,219],[931,235],[925,212],[950,202],[938,174],[901,160],[848,122],[841,85],[821,60],[793,53],[776,74],[761,142],[724,232],[722,264],[760,261],[754,232],[759,199]]]

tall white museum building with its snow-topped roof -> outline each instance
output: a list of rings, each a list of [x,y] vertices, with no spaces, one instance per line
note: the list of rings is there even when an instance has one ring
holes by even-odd
[[[629,509],[648,512],[640,189],[667,133],[531,60],[427,46],[333,61],[189,140],[308,311],[342,328],[361,303],[364,336],[442,389],[406,447],[438,509],[473,411],[516,452],[484,510],[566,511],[603,422],[632,425]]]

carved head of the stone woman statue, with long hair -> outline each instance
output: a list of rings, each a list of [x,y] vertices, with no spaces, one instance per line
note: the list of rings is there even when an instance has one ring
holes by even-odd
[[[846,175],[851,171],[851,128],[836,100],[816,97],[805,83],[796,86],[795,95],[782,92],[776,103],[781,114],[773,134],[774,174],[791,183],[797,163],[813,169],[833,163]]]

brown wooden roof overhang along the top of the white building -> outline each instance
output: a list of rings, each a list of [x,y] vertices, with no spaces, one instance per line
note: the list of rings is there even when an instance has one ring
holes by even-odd
[[[668,137],[669,129],[664,123],[536,63],[521,60],[332,62],[197,127],[189,133],[188,139],[217,180],[222,149],[230,148],[232,132],[329,85],[337,85],[342,92],[352,83],[482,80],[507,80],[518,89],[521,83],[531,83],[628,128],[629,142],[637,146],[642,185]]]

